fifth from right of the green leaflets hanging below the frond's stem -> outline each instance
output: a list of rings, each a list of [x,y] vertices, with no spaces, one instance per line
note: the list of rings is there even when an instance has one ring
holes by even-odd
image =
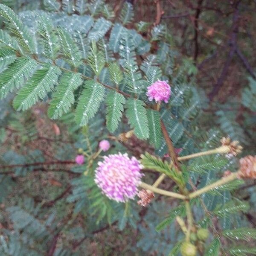
[[[63,113],[67,113],[75,102],[73,92],[81,83],[82,79],[79,73],[64,73],[56,87],[56,92],[52,95],[53,99],[48,109],[48,116],[51,119],[57,119]]]

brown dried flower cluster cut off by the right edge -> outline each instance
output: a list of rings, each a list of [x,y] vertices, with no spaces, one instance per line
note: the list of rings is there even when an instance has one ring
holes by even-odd
[[[239,177],[256,179],[256,156],[246,156],[239,160]]]

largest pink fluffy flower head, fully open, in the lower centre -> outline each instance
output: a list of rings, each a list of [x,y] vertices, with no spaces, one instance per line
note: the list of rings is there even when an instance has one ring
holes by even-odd
[[[111,154],[98,165],[94,180],[102,193],[117,202],[134,199],[143,176],[140,172],[143,166],[135,157],[130,159],[128,154]]]

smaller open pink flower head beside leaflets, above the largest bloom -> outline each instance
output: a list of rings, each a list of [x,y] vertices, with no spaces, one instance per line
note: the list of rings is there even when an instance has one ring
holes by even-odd
[[[160,103],[162,100],[165,103],[168,103],[171,96],[171,87],[167,82],[168,81],[157,80],[154,84],[148,86],[148,91],[146,93],[148,99],[150,101],[154,99],[157,103]]]

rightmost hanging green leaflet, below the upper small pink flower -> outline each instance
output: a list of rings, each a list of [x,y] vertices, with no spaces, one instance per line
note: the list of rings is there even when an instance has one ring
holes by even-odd
[[[160,114],[158,111],[148,109],[148,127],[149,127],[149,141],[159,148],[161,145],[162,131],[160,126]]]

